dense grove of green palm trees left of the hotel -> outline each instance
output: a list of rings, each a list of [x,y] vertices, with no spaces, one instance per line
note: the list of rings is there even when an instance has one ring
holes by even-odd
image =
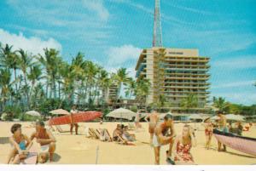
[[[86,60],[84,54],[63,60],[54,48],[44,48],[42,54],[32,54],[0,43],[0,114],[36,110],[48,113],[52,109],[70,109],[72,104],[92,110],[108,103],[108,88],[117,85],[117,97],[125,88],[129,99],[145,100],[150,83],[129,77],[125,68],[111,73],[102,66]],[[15,109],[15,110],[10,110]]]

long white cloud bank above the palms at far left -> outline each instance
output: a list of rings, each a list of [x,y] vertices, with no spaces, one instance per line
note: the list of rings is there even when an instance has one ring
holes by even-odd
[[[44,53],[44,48],[55,48],[61,51],[61,44],[53,38],[42,40],[40,37],[25,37],[22,32],[12,34],[0,29],[0,42],[13,45],[15,49],[22,48],[32,54]]]

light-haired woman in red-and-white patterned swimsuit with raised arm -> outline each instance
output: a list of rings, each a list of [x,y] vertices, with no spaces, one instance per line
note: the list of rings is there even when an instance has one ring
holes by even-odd
[[[190,153],[191,147],[196,146],[194,129],[189,125],[184,125],[183,134],[178,135],[173,145],[173,156],[175,164],[195,164]]]

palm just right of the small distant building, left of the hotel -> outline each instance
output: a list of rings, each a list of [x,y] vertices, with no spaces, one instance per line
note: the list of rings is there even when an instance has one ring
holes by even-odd
[[[120,68],[117,73],[114,75],[114,79],[118,85],[118,93],[117,93],[117,99],[116,102],[119,100],[120,92],[122,85],[125,85],[129,82],[128,78],[128,72],[126,71],[126,68]]]

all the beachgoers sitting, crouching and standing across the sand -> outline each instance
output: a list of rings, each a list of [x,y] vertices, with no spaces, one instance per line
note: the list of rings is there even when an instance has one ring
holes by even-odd
[[[73,106],[71,111],[71,124],[70,133],[73,134],[73,128],[75,128],[76,134],[78,134],[79,125],[73,123],[73,113],[77,112],[76,107]],[[139,115],[138,115],[139,116]],[[207,118],[203,123],[205,127],[206,135],[206,148],[209,149],[212,140],[213,128],[229,133],[231,128],[227,124],[227,119],[222,112],[218,112],[218,123],[213,124],[210,118]],[[140,127],[140,117],[136,119],[137,128]],[[160,164],[160,147],[168,145],[166,151],[166,162],[170,164],[195,164],[194,158],[190,153],[192,147],[196,146],[195,129],[185,124],[181,134],[176,134],[174,128],[174,120],[172,114],[166,114],[163,122],[160,122],[160,116],[157,111],[153,111],[145,117],[148,122],[148,132],[150,134],[150,145],[154,147],[154,163]],[[237,123],[237,128],[243,130],[241,123]],[[9,152],[7,163],[19,164],[26,160],[33,145],[33,140],[40,146],[40,150],[37,155],[37,162],[44,163],[53,162],[55,153],[55,137],[51,132],[45,128],[44,122],[37,122],[35,125],[35,132],[28,137],[22,133],[21,124],[15,123],[10,129],[12,136],[9,138],[12,146]],[[102,137],[110,137],[108,131],[102,129]],[[241,132],[240,132],[241,134]],[[106,136],[105,136],[106,135]],[[108,139],[104,139],[108,140]],[[128,132],[128,126],[123,124],[117,124],[117,127],[113,130],[113,141],[117,142],[132,142],[135,141],[135,134]],[[226,151],[226,146],[218,142],[218,151]]]

